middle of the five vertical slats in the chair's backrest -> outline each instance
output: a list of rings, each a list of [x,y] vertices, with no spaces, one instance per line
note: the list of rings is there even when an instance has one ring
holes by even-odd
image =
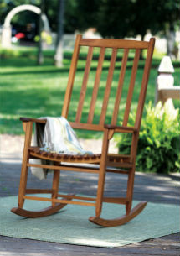
[[[100,124],[103,124],[105,122],[105,114],[106,114],[107,104],[108,104],[109,97],[110,97],[111,82],[112,82],[114,69],[115,69],[115,63],[116,63],[116,55],[117,55],[117,49],[114,48],[112,50],[111,64],[110,64],[110,68],[108,71],[107,82],[106,82],[106,86],[105,86],[105,97],[104,97],[101,114],[100,114]]]

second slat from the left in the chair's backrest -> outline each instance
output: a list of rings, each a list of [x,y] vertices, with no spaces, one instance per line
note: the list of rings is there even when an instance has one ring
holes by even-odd
[[[87,123],[93,122],[93,118],[94,118],[94,114],[95,114],[95,102],[97,99],[98,89],[99,89],[99,85],[100,85],[100,76],[101,76],[102,65],[103,65],[104,59],[105,59],[105,48],[103,47],[103,48],[100,48],[100,57],[99,57],[97,71],[96,71],[96,75],[95,75],[95,84],[94,84],[94,88],[93,88],[93,92],[92,92],[92,98],[91,98],[91,102],[90,102],[90,112],[88,115]]]

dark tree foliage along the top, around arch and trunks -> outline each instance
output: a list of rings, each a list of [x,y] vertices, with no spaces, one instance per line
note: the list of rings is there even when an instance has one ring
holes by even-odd
[[[103,37],[143,37],[147,29],[152,34],[179,27],[179,0],[66,0],[64,10],[64,32],[85,31],[95,27]],[[40,0],[0,0],[0,23],[7,13],[20,4],[40,6]],[[44,0],[49,24],[57,31],[58,1]],[[33,15],[30,12],[29,15]],[[26,16],[26,15],[25,15]],[[28,16],[26,16],[28,18]]]

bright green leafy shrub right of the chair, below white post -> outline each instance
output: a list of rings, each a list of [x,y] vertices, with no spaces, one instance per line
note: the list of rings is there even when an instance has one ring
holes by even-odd
[[[177,172],[180,167],[180,123],[179,109],[171,112],[161,102],[146,107],[145,118],[141,120],[141,131],[136,155],[136,170],[157,173]],[[134,123],[135,114],[130,123]],[[121,154],[129,154],[131,134],[116,135]]]

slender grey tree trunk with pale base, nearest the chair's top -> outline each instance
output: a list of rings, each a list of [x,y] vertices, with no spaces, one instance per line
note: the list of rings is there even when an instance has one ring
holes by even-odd
[[[63,66],[64,3],[65,0],[59,0],[58,34],[54,55],[54,65],[58,67]]]

